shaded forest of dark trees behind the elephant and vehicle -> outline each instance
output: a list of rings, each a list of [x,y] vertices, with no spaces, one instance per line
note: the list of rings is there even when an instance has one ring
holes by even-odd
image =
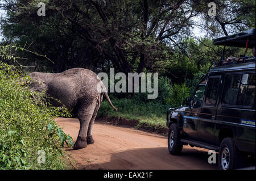
[[[109,68],[125,74],[158,72],[158,100],[175,106],[183,102],[171,95],[191,94],[212,62],[221,59],[222,47],[212,45],[214,38],[255,27],[253,0],[213,1],[216,16],[208,15],[212,0],[1,2],[7,12],[1,18],[1,44],[51,60],[18,49],[13,53],[22,57],[19,64],[25,72],[59,73],[77,67],[96,73]],[[46,4],[46,16],[36,14],[39,2]],[[194,27],[203,30],[204,36],[196,36]],[[228,48],[225,57],[240,56],[243,51]],[[144,100],[142,94],[116,95],[127,96]]]

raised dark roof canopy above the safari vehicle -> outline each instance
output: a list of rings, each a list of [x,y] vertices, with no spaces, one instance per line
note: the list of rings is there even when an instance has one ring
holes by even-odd
[[[255,46],[255,28],[234,35],[214,39],[213,45],[226,45],[228,47],[246,47],[247,39],[250,40],[248,42],[248,48],[253,48]]]

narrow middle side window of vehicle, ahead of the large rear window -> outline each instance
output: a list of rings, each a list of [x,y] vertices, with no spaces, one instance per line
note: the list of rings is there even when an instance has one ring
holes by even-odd
[[[216,103],[219,84],[220,84],[220,77],[209,77],[205,104],[214,105]]]

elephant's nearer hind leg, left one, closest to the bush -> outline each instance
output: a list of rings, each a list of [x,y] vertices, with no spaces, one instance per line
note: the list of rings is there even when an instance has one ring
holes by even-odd
[[[83,111],[79,111],[78,117],[80,121],[80,129],[79,129],[79,135],[77,136],[77,140],[74,144],[74,149],[81,149],[85,148],[87,146],[87,132],[90,120],[92,119],[93,112],[95,106],[90,105],[89,109],[85,109]]]

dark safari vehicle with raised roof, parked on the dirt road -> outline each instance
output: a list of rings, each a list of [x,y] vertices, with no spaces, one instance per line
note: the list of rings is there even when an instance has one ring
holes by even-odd
[[[255,159],[255,29],[225,36],[214,45],[246,48],[239,60],[221,61],[203,76],[185,107],[167,111],[168,150],[180,154],[183,145],[218,152],[219,169],[237,169],[244,156]]]

